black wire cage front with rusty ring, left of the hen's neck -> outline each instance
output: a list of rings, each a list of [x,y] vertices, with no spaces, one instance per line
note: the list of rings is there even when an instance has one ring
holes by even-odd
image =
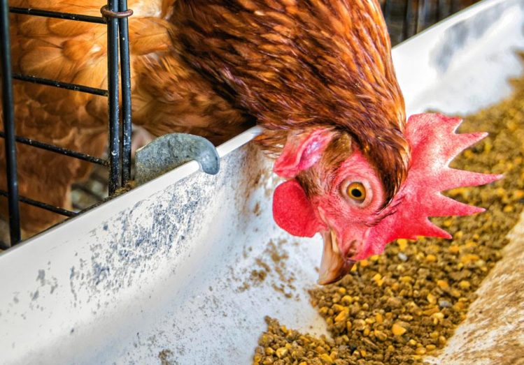
[[[1,81],[2,81],[2,110],[3,110],[3,132],[0,137],[5,139],[6,167],[7,167],[7,191],[0,190],[0,195],[8,198],[9,211],[9,237],[10,245],[20,242],[20,208],[19,202],[31,204],[41,209],[52,211],[62,216],[76,216],[76,212],[53,207],[45,202],[38,202],[18,193],[17,184],[17,157],[16,143],[28,144],[29,146],[46,149],[48,151],[78,158],[83,161],[108,167],[108,191],[113,195],[120,186],[124,186],[131,179],[131,80],[129,69],[129,37],[127,17],[132,15],[132,10],[127,8],[127,0],[108,0],[106,6],[100,9],[101,16],[93,17],[80,14],[57,13],[48,10],[37,10],[29,8],[14,8],[8,6],[7,0],[0,3],[0,50],[1,50]],[[84,85],[70,84],[59,80],[48,80],[31,75],[20,75],[11,70],[10,59],[10,30],[9,13],[36,16],[53,17],[71,22],[90,22],[95,24],[106,24],[108,38],[108,89],[95,89]],[[119,55],[120,53],[120,55]],[[120,73],[119,73],[120,67]],[[109,153],[108,158],[99,158],[71,151],[52,144],[29,140],[15,134],[15,115],[13,112],[13,80],[22,82],[34,82],[49,87],[59,87],[78,91],[81,93],[106,96],[108,98],[108,128],[109,128]],[[119,80],[122,85],[122,103],[119,103]],[[120,128],[120,117],[121,127]],[[122,129],[122,131],[120,131]],[[122,137],[120,134],[122,133]],[[9,245],[2,243],[4,248]]]

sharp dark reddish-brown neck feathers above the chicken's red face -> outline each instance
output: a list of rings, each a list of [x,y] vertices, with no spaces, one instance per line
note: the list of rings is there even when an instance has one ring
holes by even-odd
[[[406,177],[404,99],[375,0],[178,0],[171,18],[183,59],[266,128],[264,149],[290,130],[349,133],[388,200]]]

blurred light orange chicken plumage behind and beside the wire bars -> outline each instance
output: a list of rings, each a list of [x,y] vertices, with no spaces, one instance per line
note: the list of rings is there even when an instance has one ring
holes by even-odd
[[[167,20],[174,1],[130,0],[133,121],[155,136],[185,132],[215,144],[243,130],[241,111],[218,96],[211,83],[180,60]],[[104,0],[12,0],[10,6],[100,16]],[[107,89],[105,25],[11,15],[13,70],[52,80]],[[16,133],[101,156],[106,146],[107,98],[16,81]],[[0,113],[1,121],[1,113]],[[1,128],[1,127],[0,127]],[[5,171],[0,140],[0,171]],[[71,209],[71,184],[87,177],[90,163],[17,144],[20,195]],[[0,174],[6,189],[6,174]],[[2,214],[7,202],[0,198]],[[20,204],[24,237],[64,217]]]

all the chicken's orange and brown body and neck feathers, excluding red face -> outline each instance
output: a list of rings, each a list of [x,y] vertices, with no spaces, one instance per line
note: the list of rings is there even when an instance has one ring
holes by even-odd
[[[94,16],[104,4],[10,1]],[[264,127],[258,142],[274,156],[324,131],[320,163],[296,176],[309,198],[357,149],[376,172],[379,205],[395,195],[409,147],[376,0],[131,0],[129,8],[134,124],[154,136],[184,132],[219,144],[256,121]],[[26,15],[11,21],[15,72],[107,88],[106,26]],[[15,117],[17,135],[94,156],[104,149],[104,97],[15,81]],[[20,194],[70,209],[71,184],[90,165],[20,144],[17,154]],[[1,200],[3,214],[6,205]],[[21,209],[26,235],[60,219]]]

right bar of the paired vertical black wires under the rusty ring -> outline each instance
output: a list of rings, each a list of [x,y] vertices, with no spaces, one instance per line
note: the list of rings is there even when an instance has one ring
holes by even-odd
[[[127,10],[127,0],[119,0],[120,12]],[[122,186],[131,179],[131,71],[129,70],[129,29],[127,17],[119,20],[120,70],[122,71]]]

